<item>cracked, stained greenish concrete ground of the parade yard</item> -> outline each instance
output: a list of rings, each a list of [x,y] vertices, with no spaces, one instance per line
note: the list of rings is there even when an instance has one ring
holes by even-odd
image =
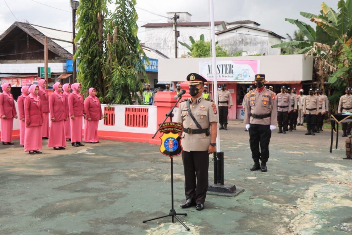
[[[190,231],[170,217],[142,223],[171,208],[170,159],[159,146],[102,140],[29,155],[15,141],[1,147],[0,234],[352,234],[352,161],[342,160],[344,138],[330,154],[330,130],[276,132],[266,173],[249,171],[242,123],[231,121],[220,132],[225,184],[245,192],[208,195],[203,211],[178,207],[185,200],[183,167],[174,157],[175,209],[188,213],[179,217]]]

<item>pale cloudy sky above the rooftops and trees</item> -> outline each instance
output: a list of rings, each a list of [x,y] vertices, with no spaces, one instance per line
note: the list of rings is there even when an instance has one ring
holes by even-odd
[[[285,21],[285,18],[300,19],[308,23],[309,20],[301,17],[299,12],[318,14],[322,0],[214,0],[214,2],[216,21],[254,20],[261,24],[260,28],[285,36],[286,33],[292,35],[297,29]],[[325,0],[325,3],[335,10],[337,2]],[[70,0],[0,0],[0,9],[0,34],[14,21],[26,20],[32,24],[71,31]],[[145,23],[165,23],[167,19],[162,16],[166,16],[166,12],[175,11],[189,12],[192,14],[192,21],[209,21],[208,0],[137,0],[136,10],[139,26]],[[145,28],[140,27],[138,37],[142,42],[144,42],[143,31]]]

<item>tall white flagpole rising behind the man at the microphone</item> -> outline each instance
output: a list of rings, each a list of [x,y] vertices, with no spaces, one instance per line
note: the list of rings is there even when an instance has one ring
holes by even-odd
[[[214,102],[219,112],[218,105],[218,78],[216,77],[216,52],[215,52],[215,24],[214,24],[214,0],[209,0],[210,9],[210,36],[212,39],[212,70],[214,81]],[[219,117],[219,115],[218,115]],[[220,131],[218,125],[218,135],[216,136],[216,153],[220,153]]]

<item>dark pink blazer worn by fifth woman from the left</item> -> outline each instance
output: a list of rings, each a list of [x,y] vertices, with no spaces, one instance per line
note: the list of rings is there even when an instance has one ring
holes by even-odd
[[[67,118],[65,104],[66,98],[64,95],[59,97],[56,92],[53,92],[49,95],[50,117],[54,117],[55,122],[65,120]]]

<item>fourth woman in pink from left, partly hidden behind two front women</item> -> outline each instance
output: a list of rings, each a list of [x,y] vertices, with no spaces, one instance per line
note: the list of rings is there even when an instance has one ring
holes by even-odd
[[[46,81],[45,79],[38,80],[39,86],[39,98],[40,103],[42,104],[42,112],[44,116],[44,124],[42,126],[42,137],[43,140],[47,140],[49,138],[49,95],[46,91]]]

